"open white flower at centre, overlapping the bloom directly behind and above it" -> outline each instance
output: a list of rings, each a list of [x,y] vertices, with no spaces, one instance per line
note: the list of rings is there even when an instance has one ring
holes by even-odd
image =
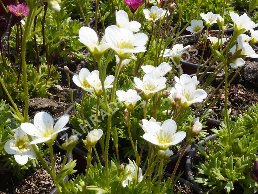
[[[150,99],[153,95],[166,87],[167,79],[164,77],[157,77],[155,72],[147,73],[143,76],[143,80],[134,77],[136,87],[142,90],[142,94],[146,99]]]

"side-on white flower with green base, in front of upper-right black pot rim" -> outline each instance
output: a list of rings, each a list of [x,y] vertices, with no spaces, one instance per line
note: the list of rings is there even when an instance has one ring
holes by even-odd
[[[173,46],[172,49],[165,49],[163,57],[169,57],[173,59],[176,63],[180,63],[180,56],[183,54],[183,52],[188,49],[190,45],[187,45],[184,47],[182,44],[176,44]],[[163,50],[161,51],[161,54],[163,53]]]

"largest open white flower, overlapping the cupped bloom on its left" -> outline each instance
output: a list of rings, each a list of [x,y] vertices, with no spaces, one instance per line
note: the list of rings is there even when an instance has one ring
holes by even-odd
[[[105,39],[119,58],[123,60],[130,56],[131,53],[146,51],[144,45],[148,41],[148,36],[144,33],[133,34],[128,29],[112,25],[106,28]]]

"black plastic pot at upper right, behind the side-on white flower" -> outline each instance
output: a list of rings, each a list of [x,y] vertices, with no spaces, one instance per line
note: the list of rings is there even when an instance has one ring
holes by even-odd
[[[198,36],[195,34],[191,34],[191,35],[184,35],[184,36],[179,36],[177,38],[177,40],[182,40],[182,39],[190,39],[190,38],[194,38],[196,40],[198,40]],[[172,39],[172,41],[174,41],[175,39]],[[180,64],[181,67],[184,71],[185,74],[191,75],[197,72],[198,69],[198,64],[194,64],[194,63],[190,63],[184,60],[180,60]],[[203,71],[207,69],[208,66],[205,66]],[[203,65],[200,65],[200,69],[203,68]],[[216,67],[211,67],[210,71],[214,71],[216,69]],[[202,71],[202,72],[203,72]]]

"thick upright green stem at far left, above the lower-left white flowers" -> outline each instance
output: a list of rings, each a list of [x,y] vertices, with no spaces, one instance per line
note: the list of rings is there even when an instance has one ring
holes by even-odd
[[[24,29],[22,46],[21,46],[21,68],[22,68],[22,74],[23,74],[23,87],[24,87],[23,122],[27,122],[28,109],[29,109],[29,93],[28,93],[28,81],[27,81],[27,69],[26,69],[26,44],[27,44],[28,35],[30,34],[30,30],[32,27],[32,21],[33,21],[35,10],[36,9],[34,7],[32,7],[29,11],[25,29]]]

